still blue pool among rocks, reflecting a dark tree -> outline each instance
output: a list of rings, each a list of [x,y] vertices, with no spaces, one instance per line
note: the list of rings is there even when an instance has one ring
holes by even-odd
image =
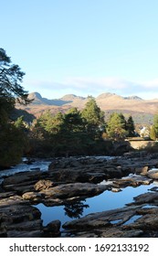
[[[121,192],[105,191],[99,196],[90,197],[86,200],[79,201],[72,205],[46,207],[43,204],[35,206],[41,212],[43,225],[46,226],[52,220],[59,219],[61,224],[73,219],[79,219],[90,213],[101,212],[114,208],[122,208],[125,204],[132,203],[133,197],[148,192],[152,187],[157,186],[156,183],[151,185],[143,185],[140,187],[126,187]]]

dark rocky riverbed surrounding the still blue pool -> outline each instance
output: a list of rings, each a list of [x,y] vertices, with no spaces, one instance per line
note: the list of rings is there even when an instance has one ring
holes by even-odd
[[[130,175],[130,176],[129,176]],[[4,176],[0,185],[1,237],[59,237],[60,219],[45,227],[34,207],[61,206],[123,187],[150,185],[158,180],[158,155],[69,157],[53,159],[47,171]],[[108,183],[102,183],[108,181]],[[158,237],[158,189],[135,197],[131,204],[89,214],[63,224],[65,237]]]

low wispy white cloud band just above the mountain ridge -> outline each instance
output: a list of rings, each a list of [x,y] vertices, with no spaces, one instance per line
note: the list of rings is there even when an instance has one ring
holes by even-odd
[[[120,78],[66,78],[61,82],[53,80],[27,80],[26,90],[38,91],[47,98],[62,97],[65,94],[73,93],[80,96],[98,96],[103,92],[114,92],[122,96],[143,95],[158,97],[158,79],[151,81],[130,81]],[[156,95],[157,94],[157,95]],[[153,95],[153,96],[152,96]],[[146,97],[145,96],[145,97]]]

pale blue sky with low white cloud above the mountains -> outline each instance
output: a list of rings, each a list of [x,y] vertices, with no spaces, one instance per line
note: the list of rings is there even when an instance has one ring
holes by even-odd
[[[0,48],[24,88],[158,98],[157,0],[0,0]]]

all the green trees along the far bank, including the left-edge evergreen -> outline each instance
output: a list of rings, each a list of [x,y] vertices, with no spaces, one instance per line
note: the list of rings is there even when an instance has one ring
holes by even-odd
[[[28,93],[21,86],[25,73],[12,64],[0,48],[0,167],[16,165],[23,155],[37,157],[68,155],[108,155],[112,141],[133,137],[132,116],[113,112],[105,123],[105,113],[93,97],[83,110],[44,112],[31,124],[23,116],[13,120],[16,101],[28,104]],[[151,138],[158,137],[158,115],[154,116]]]

